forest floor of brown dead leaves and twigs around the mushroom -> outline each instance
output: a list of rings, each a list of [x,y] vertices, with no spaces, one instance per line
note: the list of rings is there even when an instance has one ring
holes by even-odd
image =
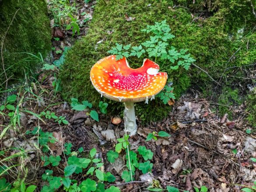
[[[91,6],[94,4],[95,2],[92,2],[80,6],[80,13],[87,12],[92,15]],[[81,20],[84,19],[82,17],[80,15]],[[86,35],[88,27],[81,27],[80,30],[81,35]],[[71,32],[60,28],[53,30],[53,37],[60,38],[53,40],[55,50],[72,45],[80,37],[75,35],[73,38],[70,34]],[[61,55],[53,51],[53,56],[57,60]],[[111,123],[112,117],[103,114],[99,116],[99,122],[96,122],[89,118],[88,111],[72,110],[70,104],[55,92],[54,79],[53,73],[43,70],[32,86],[26,85],[21,89],[19,95],[22,99],[18,101],[17,106],[24,111],[20,117],[22,128],[17,126],[16,130],[1,136],[2,149],[14,147],[9,155],[17,152],[15,148],[20,146],[30,150],[25,159],[18,157],[18,161],[22,161],[22,167],[17,167],[14,173],[21,171],[21,175],[25,174],[22,173],[22,168],[28,168],[27,179],[38,183],[38,186],[42,184],[41,175],[46,168],[42,167],[42,154],[32,145],[35,137],[26,135],[28,130],[37,126],[44,132],[53,133],[58,140],[49,144],[52,155],[62,154],[64,143],[72,143],[72,151],[83,147],[85,153],[95,147],[98,157],[104,162],[104,170],[110,171],[116,177],[115,184],[110,185],[118,185],[123,192],[146,191],[145,188],[152,185],[152,181],[154,187],[164,189],[170,185],[192,192],[194,187],[200,189],[201,186],[207,186],[209,192],[238,192],[244,186],[252,186],[256,180],[256,164],[250,160],[256,156],[256,136],[245,132],[250,128],[246,121],[245,103],[240,106],[228,106],[233,114],[230,121],[227,115],[218,115],[216,105],[220,104],[212,103],[210,98],[203,98],[202,94],[191,89],[172,104],[168,118],[161,122],[151,122],[147,126],[138,122],[137,135],[129,138],[130,149],[136,150],[139,146],[150,149],[154,154],[151,160],[153,169],[151,174],[135,172],[135,181],[141,182],[124,183],[121,175],[126,167],[125,159],[119,156],[113,164],[107,161],[107,152],[113,150],[117,139],[125,135],[123,122],[114,125]],[[60,124],[54,119],[40,119],[35,115],[43,111],[66,117],[68,124]],[[0,125],[7,126],[10,121],[11,118],[2,117]],[[171,136],[145,141],[149,133],[159,131],[170,133]],[[65,167],[64,159],[61,164]],[[53,168],[53,171],[57,175],[60,173],[57,168]],[[12,177],[7,175],[7,181],[11,181]],[[83,177],[77,176],[76,179],[79,182]]]

